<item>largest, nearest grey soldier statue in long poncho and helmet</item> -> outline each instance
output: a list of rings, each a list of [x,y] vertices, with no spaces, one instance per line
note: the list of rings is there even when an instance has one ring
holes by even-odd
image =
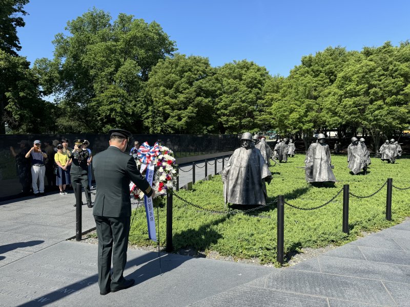
[[[245,132],[241,147],[235,149],[228,164],[222,170],[225,203],[238,205],[265,205],[271,171],[260,150],[252,143],[252,134]]]

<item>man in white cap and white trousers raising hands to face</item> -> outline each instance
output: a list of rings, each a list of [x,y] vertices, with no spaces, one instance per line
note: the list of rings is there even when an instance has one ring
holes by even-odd
[[[44,159],[47,158],[47,153],[42,151],[41,145],[42,142],[35,140],[34,146],[26,153],[27,159],[31,157],[31,183],[34,196],[44,195],[44,176],[46,174]],[[37,180],[39,186],[37,186]]]

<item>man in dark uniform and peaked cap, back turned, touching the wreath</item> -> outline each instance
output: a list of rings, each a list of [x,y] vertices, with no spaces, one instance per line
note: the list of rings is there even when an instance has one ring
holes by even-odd
[[[128,235],[130,233],[132,181],[147,196],[155,196],[141,176],[127,148],[131,133],[112,129],[110,147],[95,155],[93,170],[97,185],[93,215],[98,236],[98,285],[101,295],[130,288],[134,279],[125,279]],[[112,274],[111,269],[112,259]]]

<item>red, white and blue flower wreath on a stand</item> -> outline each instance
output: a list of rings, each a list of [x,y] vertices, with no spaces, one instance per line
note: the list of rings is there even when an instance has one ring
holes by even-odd
[[[145,171],[145,169],[141,170],[142,165],[152,161],[155,166],[152,188],[155,191],[156,197],[163,197],[167,195],[169,189],[175,188],[177,169],[174,152],[171,149],[158,143],[155,143],[154,146],[149,146],[148,143],[145,142],[138,149],[138,158],[135,162],[141,173]],[[137,187],[134,187],[131,193],[137,200],[144,199],[144,192]]]

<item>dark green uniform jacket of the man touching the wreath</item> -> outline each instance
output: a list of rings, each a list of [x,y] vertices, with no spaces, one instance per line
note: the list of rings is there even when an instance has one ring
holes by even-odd
[[[93,215],[131,216],[130,181],[150,196],[152,188],[141,176],[134,158],[118,147],[110,146],[93,158],[97,186]]]

